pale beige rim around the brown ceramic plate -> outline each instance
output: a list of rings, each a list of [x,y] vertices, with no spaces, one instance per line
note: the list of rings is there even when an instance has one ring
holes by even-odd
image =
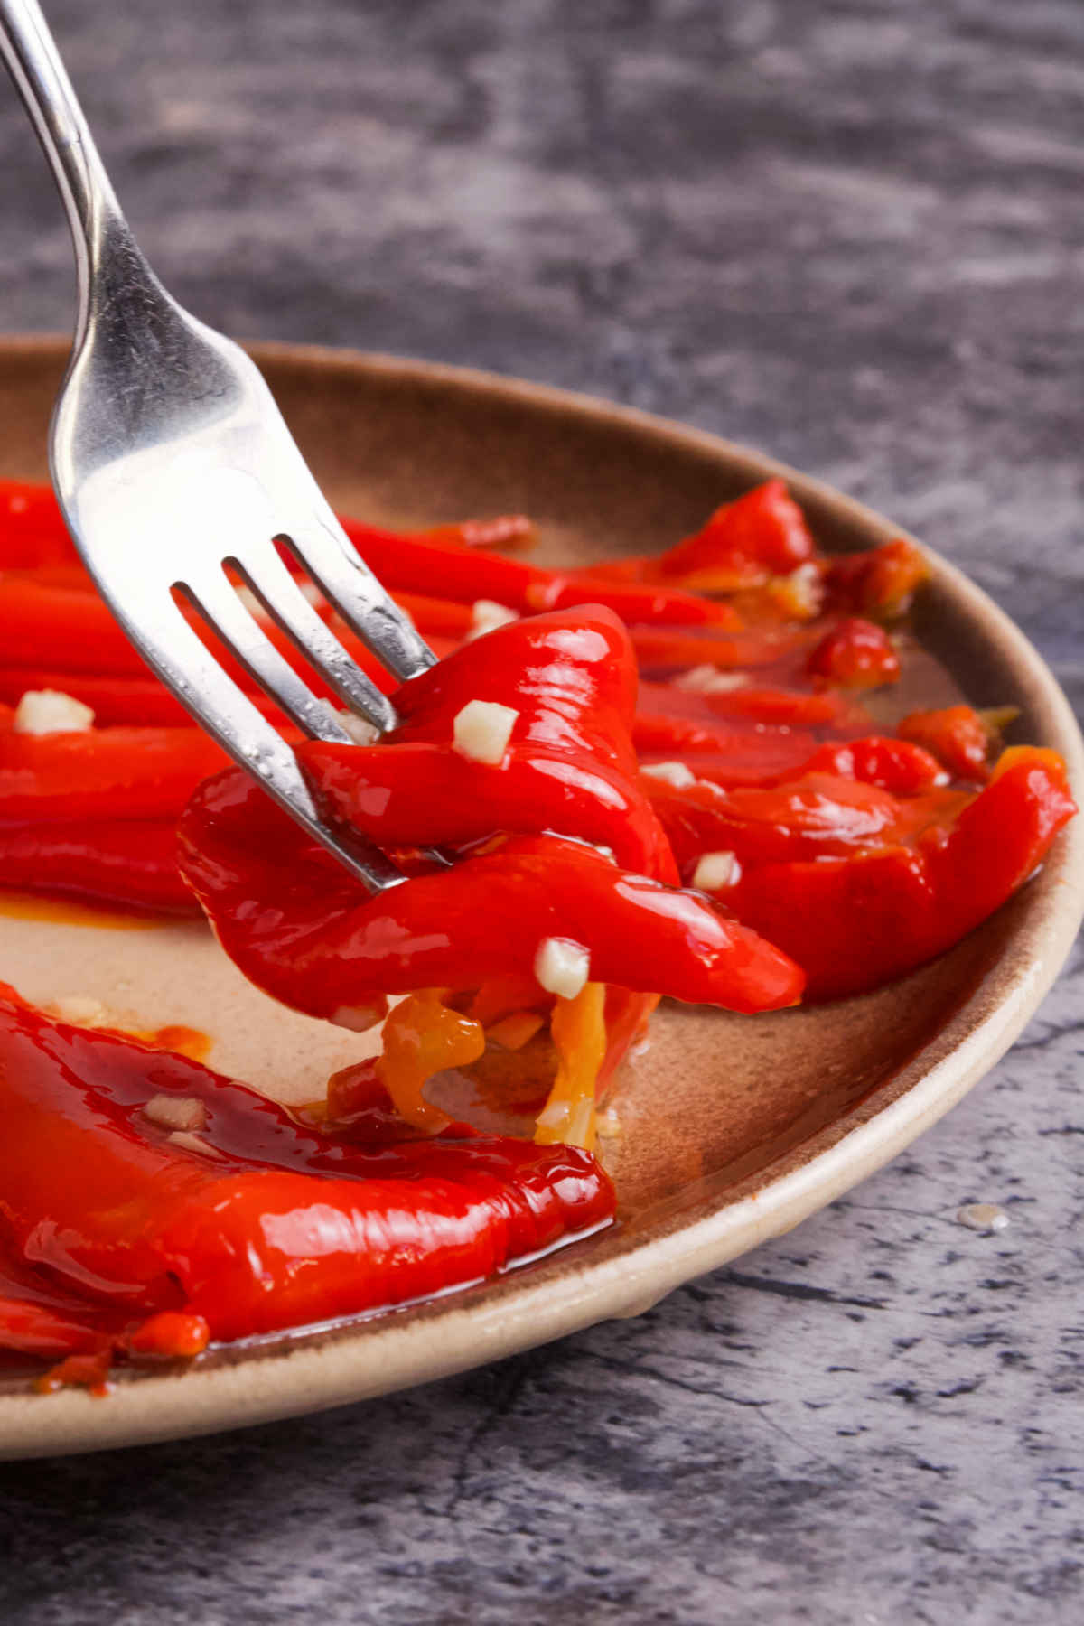
[[[752,476],[787,480],[803,504],[814,504],[868,535],[907,537],[882,514],[787,463],[710,431],[634,406],[504,377],[475,367],[358,350],[249,343],[257,363],[317,367],[323,372],[392,382],[444,385],[497,397],[525,408],[650,434],[676,447],[739,463]],[[62,363],[68,340],[57,335],[0,337],[5,358]],[[1074,714],[1038,650],[1014,621],[962,571],[926,543],[934,580],[956,608],[972,613],[1014,668],[1027,675],[1045,714],[1045,728],[1066,758],[1069,780],[1084,790],[1084,741]],[[717,1268],[769,1237],[780,1236],[882,1167],[934,1124],[995,1065],[1032,1016],[1061,969],[1084,912],[1084,816],[1060,836],[1053,870],[1024,894],[1011,945],[934,1037],[868,1098],[829,1125],[829,1143],[775,1179],[738,1198],[705,1198],[705,1211],[684,1223],[660,1220],[657,1231],[557,1276],[510,1273],[476,1298],[452,1294],[424,1314],[387,1312],[351,1324],[333,1340],[239,1350],[237,1358],[185,1371],[120,1380],[107,1400],[85,1390],[54,1395],[0,1393],[0,1459],[62,1455],[190,1437],[327,1410],[462,1372],[579,1332],[595,1322],[637,1315],[683,1281]],[[1016,946],[1016,953],[1011,948]],[[878,1106],[878,1098],[892,1098]],[[835,1133],[840,1124],[848,1124]],[[561,1255],[556,1255],[561,1259]],[[434,1332],[436,1328],[436,1332]],[[299,1335],[299,1337],[304,1337]],[[257,1372],[257,1382],[252,1374]],[[393,1379],[388,1380],[388,1372]],[[44,1411],[42,1408],[49,1410]]]

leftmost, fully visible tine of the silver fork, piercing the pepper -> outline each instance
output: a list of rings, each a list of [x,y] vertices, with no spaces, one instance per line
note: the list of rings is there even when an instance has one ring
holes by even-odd
[[[232,589],[229,592],[236,598]],[[242,615],[247,615],[241,602],[237,603]],[[255,626],[250,616],[249,621]],[[371,893],[398,886],[405,880],[379,847],[349,831],[322,823],[293,748],[223,672],[171,598],[156,595],[156,602],[143,605],[141,613],[132,606],[122,615],[122,624],[148,665],[185,704],[192,696],[198,696],[200,722],[223,750],[254,774],[263,790],[345,863]],[[150,628],[154,631],[148,631]],[[349,740],[323,702],[315,696],[312,701],[323,709],[327,719],[322,738]]]

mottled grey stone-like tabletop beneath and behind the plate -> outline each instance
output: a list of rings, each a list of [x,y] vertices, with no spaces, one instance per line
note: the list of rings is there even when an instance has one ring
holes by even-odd
[[[1084,702],[1079,0],[47,7],[148,250],[241,335],[746,439],[969,569]],[[0,327],[70,319],[0,94]],[[1084,953],[938,1128],[637,1322],[0,1468],[8,1626],[1069,1623]],[[960,1203],[991,1200],[978,1234]]]

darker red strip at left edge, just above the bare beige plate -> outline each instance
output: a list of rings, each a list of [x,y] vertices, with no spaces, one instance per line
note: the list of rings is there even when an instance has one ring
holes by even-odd
[[[177,868],[174,820],[0,821],[0,886],[151,914],[200,914]]]

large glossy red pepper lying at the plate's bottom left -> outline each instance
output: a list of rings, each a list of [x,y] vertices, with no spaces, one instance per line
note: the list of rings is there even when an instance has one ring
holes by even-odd
[[[148,1120],[156,1094],[203,1102],[206,1154]],[[18,1263],[128,1317],[202,1315],[215,1338],[476,1281],[613,1216],[587,1153],[336,1143],[197,1062],[16,1000],[0,1005],[0,1115]]]

